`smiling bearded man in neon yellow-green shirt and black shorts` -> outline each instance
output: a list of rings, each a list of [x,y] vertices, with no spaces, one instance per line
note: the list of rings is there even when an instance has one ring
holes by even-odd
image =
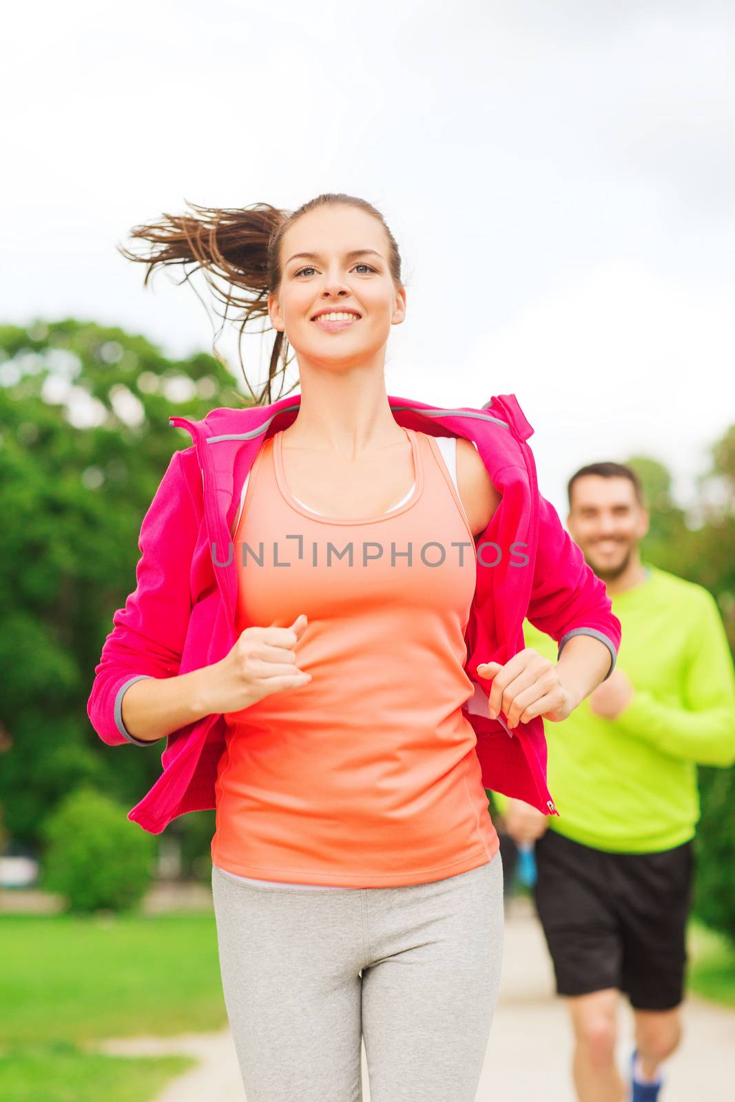
[[[620,620],[620,655],[568,720],[545,726],[560,817],[497,803],[517,843],[536,841],[537,907],[571,1012],[580,1102],[655,1102],[681,1038],[696,763],[735,759],[735,673],[712,595],[640,560],[648,512],[635,472],[582,467],[569,500],[569,531]],[[528,624],[523,634],[555,656],[548,636]],[[620,992],[636,1025],[629,1088],[615,1058]]]

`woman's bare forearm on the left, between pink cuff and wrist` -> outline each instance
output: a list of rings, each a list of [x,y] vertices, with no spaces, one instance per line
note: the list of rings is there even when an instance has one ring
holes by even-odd
[[[205,666],[173,678],[141,678],[122,695],[121,715],[126,731],[143,742],[155,742],[195,723],[212,711],[208,687],[214,667]]]

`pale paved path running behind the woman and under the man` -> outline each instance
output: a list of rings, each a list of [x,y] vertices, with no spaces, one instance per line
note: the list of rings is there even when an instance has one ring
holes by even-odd
[[[735,1096],[735,1012],[690,998],[684,1008],[685,1040],[669,1061],[670,1082],[662,1102],[726,1100]],[[630,1051],[630,1014],[620,1012],[620,1062]],[[107,1041],[106,1051],[154,1055],[187,1052],[202,1063],[174,1080],[155,1102],[247,1102],[229,1029],[175,1038]],[[506,923],[500,1000],[476,1102],[574,1102],[569,1059],[571,1035],[565,1011],[553,996],[551,964],[540,928],[523,900]],[[369,1102],[363,1048],[364,1102]]]

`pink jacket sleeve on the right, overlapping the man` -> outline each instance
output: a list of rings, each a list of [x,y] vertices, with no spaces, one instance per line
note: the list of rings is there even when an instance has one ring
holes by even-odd
[[[591,635],[604,642],[610,652],[606,681],[615,669],[620,647],[620,622],[613,614],[605,583],[584,561],[553,505],[541,495],[539,511],[528,619],[556,641],[559,655],[575,635]]]

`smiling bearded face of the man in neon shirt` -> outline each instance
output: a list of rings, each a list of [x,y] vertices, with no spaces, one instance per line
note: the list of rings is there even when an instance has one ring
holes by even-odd
[[[582,475],[572,486],[566,526],[604,582],[618,577],[648,531],[648,512],[629,478]]]

